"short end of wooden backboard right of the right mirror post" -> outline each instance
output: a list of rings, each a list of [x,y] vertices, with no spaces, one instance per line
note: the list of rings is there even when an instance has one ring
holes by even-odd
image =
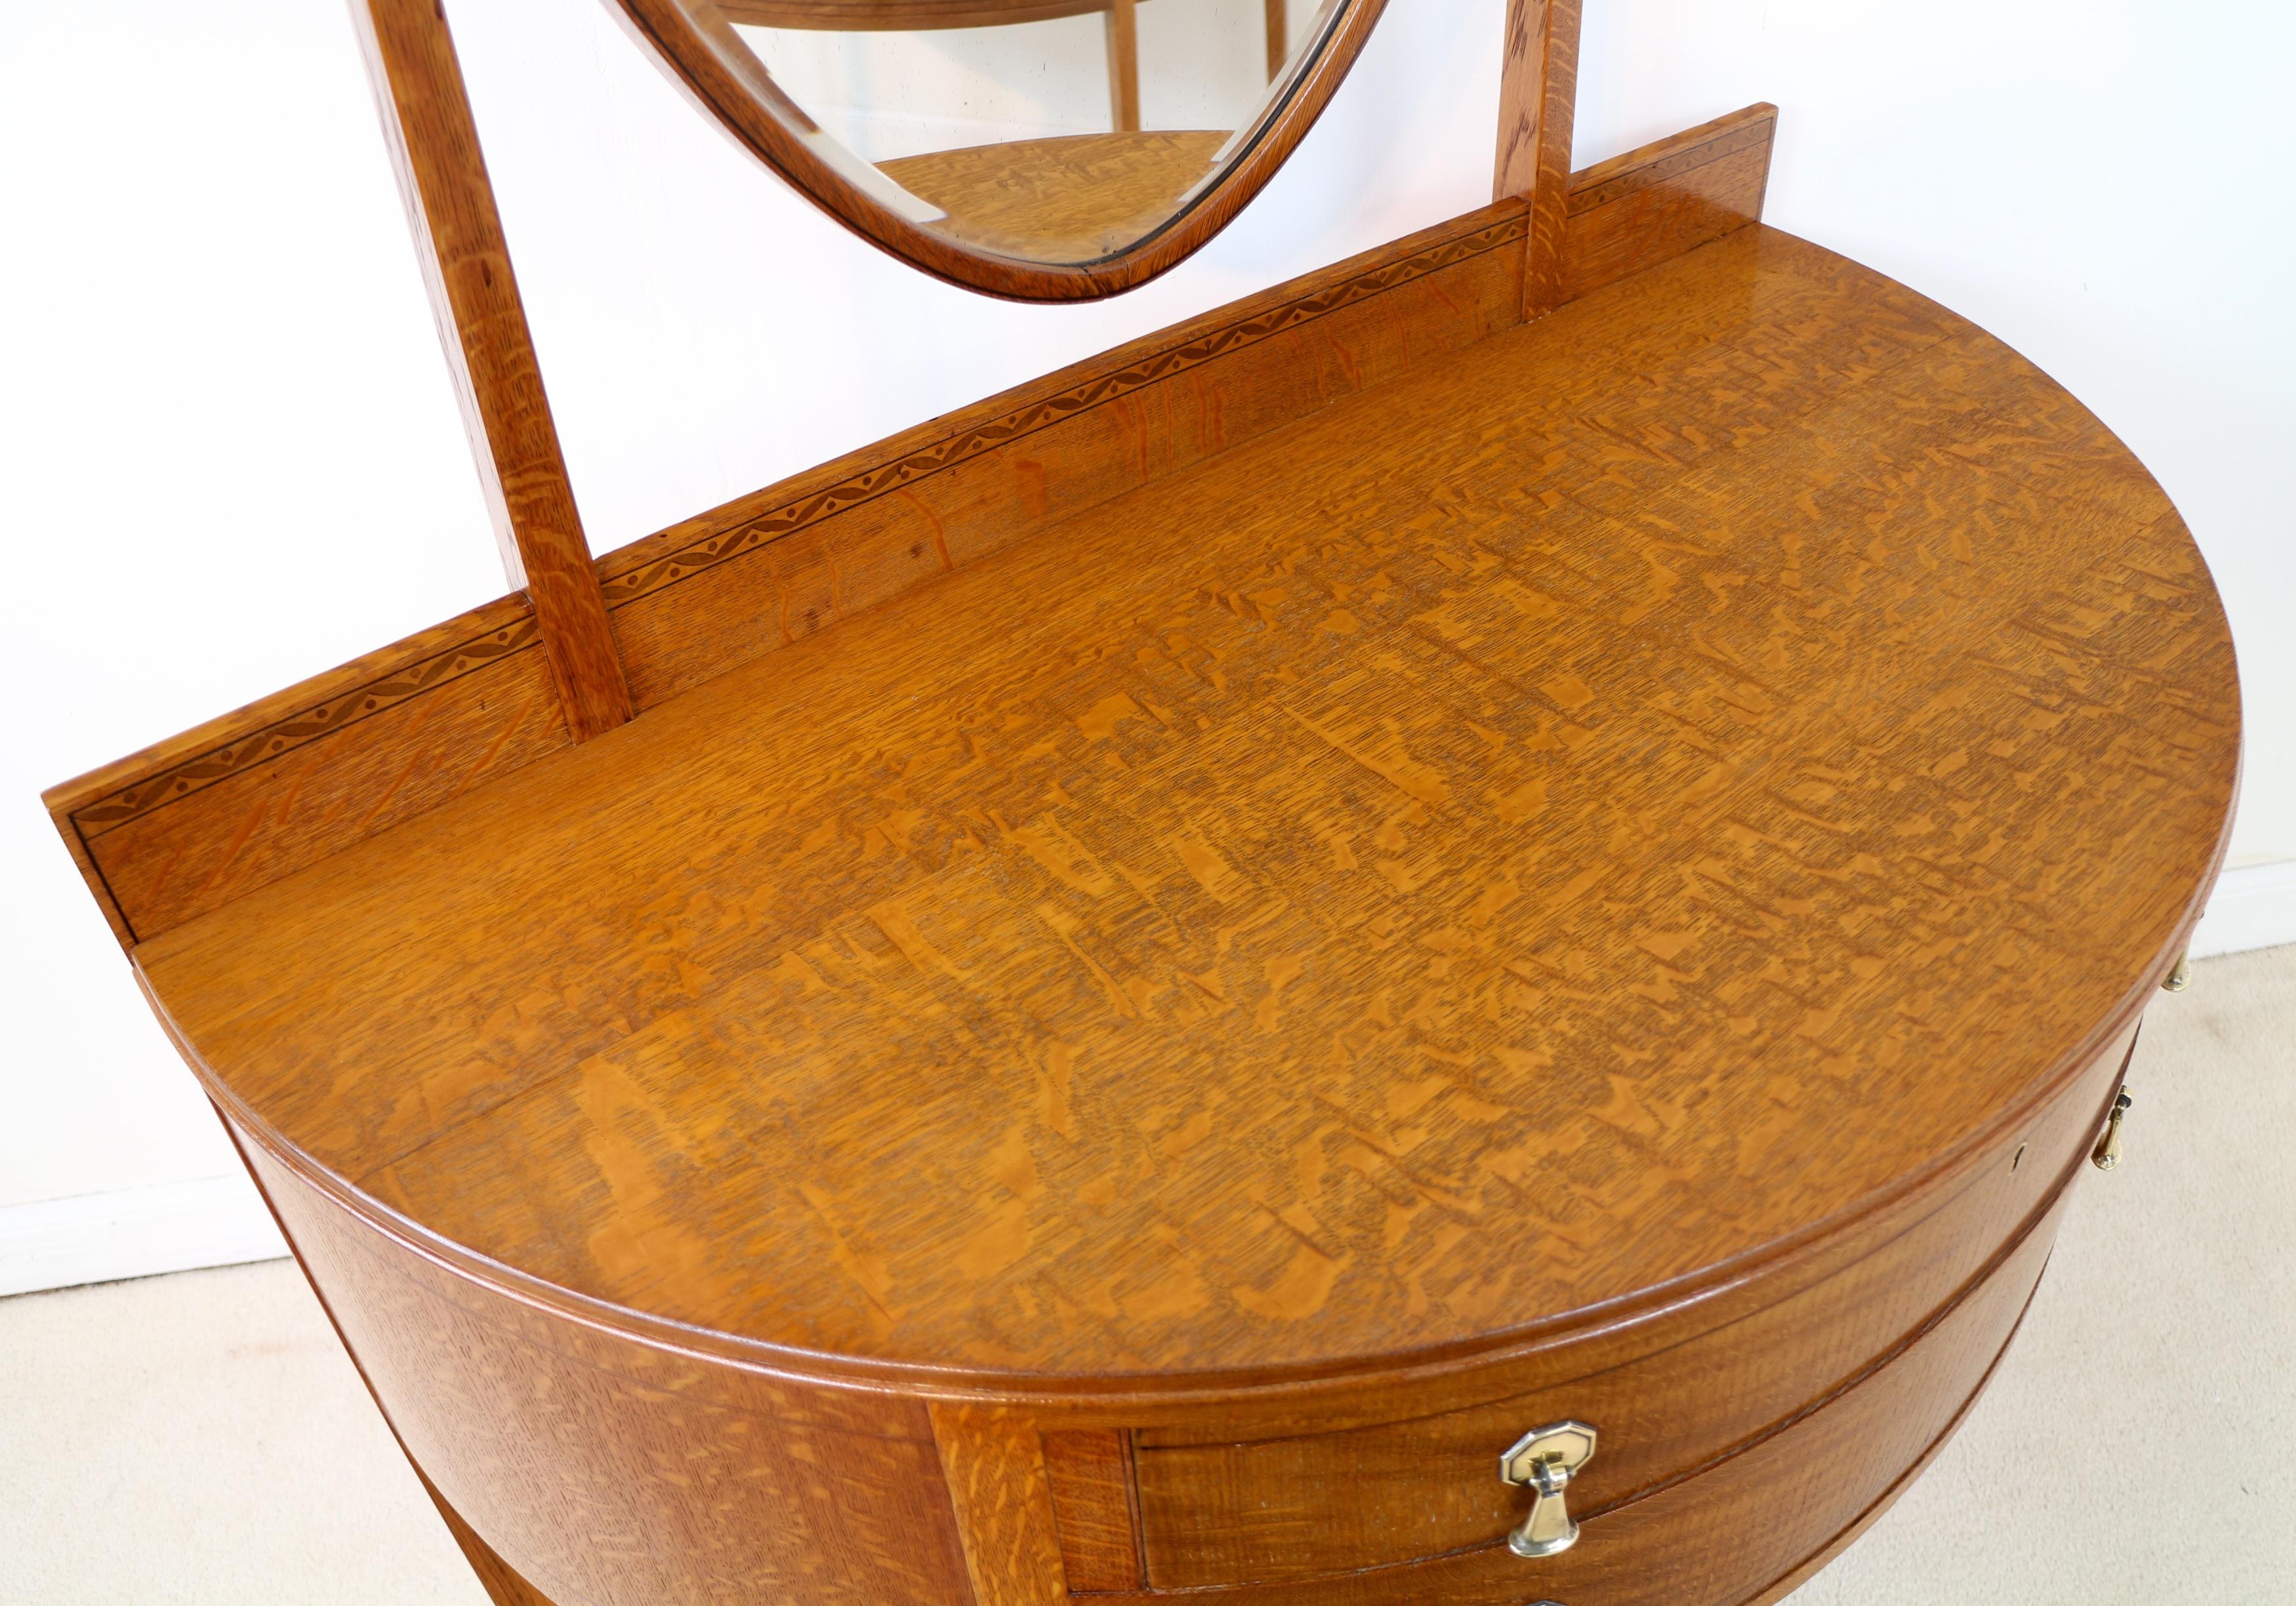
[[[1761,221],[1777,108],[1747,106],[1570,175],[1564,294],[1584,296]]]

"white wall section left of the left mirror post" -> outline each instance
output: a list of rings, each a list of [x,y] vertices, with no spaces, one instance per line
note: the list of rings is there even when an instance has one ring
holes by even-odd
[[[498,593],[489,545],[342,11],[14,7],[0,1204],[234,1165],[39,788]]]

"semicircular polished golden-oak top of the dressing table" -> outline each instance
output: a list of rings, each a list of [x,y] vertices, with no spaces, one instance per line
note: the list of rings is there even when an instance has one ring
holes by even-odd
[[[278,1142],[574,1296],[1362,1367],[1991,1142],[2174,958],[2236,712],[2094,418],[1745,227],[138,960]]]

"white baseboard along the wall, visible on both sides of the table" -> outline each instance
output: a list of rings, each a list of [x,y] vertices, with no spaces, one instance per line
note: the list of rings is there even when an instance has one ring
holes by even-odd
[[[2193,958],[2280,942],[2296,942],[2296,859],[2225,871],[2193,933]],[[0,1296],[239,1266],[285,1252],[246,1176],[0,1206]]]

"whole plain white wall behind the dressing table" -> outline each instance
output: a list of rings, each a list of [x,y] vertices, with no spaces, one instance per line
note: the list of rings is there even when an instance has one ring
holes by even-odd
[[[1114,303],[1022,308],[781,191],[599,5],[450,0],[592,542],[1479,204],[1499,9],[1391,0],[1201,257]],[[2232,609],[2248,862],[2296,857],[2289,60],[2273,0],[1589,0],[1577,152],[1777,101],[1773,223],[1975,317],[2122,432]],[[333,7],[25,9],[0,152],[7,1289],[195,1259],[197,1231],[154,1227],[184,1213],[216,1254],[262,1241],[246,1188],[202,1181],[230,1156],[37,790],[501,579]],[[2245,875],[2211,926],[2296,937],[2296,875]],[[51,1204],[5,1209],[28,1202]]]

